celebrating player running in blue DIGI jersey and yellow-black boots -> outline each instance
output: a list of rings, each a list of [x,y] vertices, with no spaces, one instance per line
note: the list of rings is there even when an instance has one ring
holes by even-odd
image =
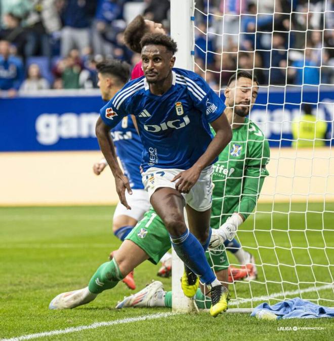
[[[211,165],[232,137],[223,113],[225,105],[197,74],[173,69],[177,46],[170,37],[147,34],[141,46],[145,77],[128,83],[101,109],[96,134],[115,177],[120,202],[131,209],[125,196],[126,190],[132,194],[131,186],[117,163],[109,130],[129,112],[136,117],[144,146],[143,183],[174,249],[186,264],[183,291],[189,297],[195,294],[197,274],[212,287],[211,314],[217,316],[227,309],[228,290],[217,280],[204,250],[211,235]],[[214,138],[209,123],[216,131]],[[185,203],[191,232],[184,221]],[[129,273],[124,259],[129,257],[131,245],[126,240],[117,250],[115,273]]]

